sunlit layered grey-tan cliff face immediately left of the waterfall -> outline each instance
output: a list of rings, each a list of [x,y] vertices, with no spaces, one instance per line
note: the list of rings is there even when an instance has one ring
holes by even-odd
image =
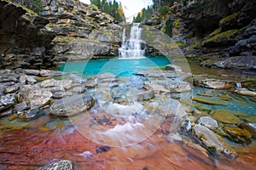
[[[113,18],[79,0],[42,0],[40,14],[49,20],[48,31],[56,34],[55,60],[90,59],[116,54],[122,27]]]

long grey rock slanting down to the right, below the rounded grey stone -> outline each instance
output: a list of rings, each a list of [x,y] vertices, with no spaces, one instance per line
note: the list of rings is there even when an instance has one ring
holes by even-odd
[[[204,127],[200,124],[195,124],[193,127],[195,137],[204,144],[208,150],[217,152],[218,154],[224,154],[236,158],[236,151],[227,144],[218,134],[213,133],[209,128]]]

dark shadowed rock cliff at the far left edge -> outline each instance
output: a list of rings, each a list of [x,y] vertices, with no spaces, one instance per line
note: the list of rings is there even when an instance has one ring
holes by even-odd
[[[48,65],[46,51],[55,37],[44,29],[49,21],[9,1],[0,1],[0,67]]]

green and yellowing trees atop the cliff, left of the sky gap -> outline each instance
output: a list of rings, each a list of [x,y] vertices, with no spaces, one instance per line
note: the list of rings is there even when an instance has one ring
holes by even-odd
[[[102,12],[110,14],[118,22],[125,21],[125,13],[121,3],[115,0],[90,0],[90,4],[96,5]]]

